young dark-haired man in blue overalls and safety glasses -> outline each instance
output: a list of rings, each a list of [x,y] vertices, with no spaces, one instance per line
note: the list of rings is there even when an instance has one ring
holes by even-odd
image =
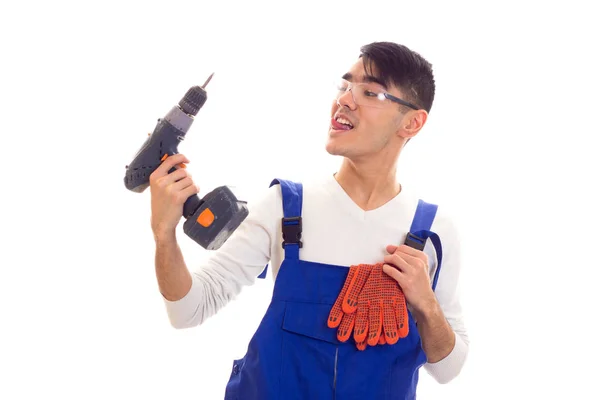
[[[175,229],[183,203],[199,189],[187,169],[167,173],[189,160],[171,156],[152,174],[156,274],[174,327],[203,323],[270,262],[272,302],[247,354],[234,362],[226,398],[407,399],[415,396],[421,366],[441,383],[459,374],[468,336],[457,233],[443,207],[423,206],[396,181],[398,157],[427,121],[434,92],[431,65],[417,53],[388,42],[364,46],[332,102],[326,149],[343,156],[339,170],[307,185],[274,180],[238,230],[193,272]],[[409,230],[425,232],[424,247],[405,244]],[[388,314],[370,319],[369,345],[352,340],[358,319],[345,336],[328,326],[351,280],[348,267],[359,265],[368,268],[364,276],[382,271],[381,282],[401,288],[409,310],[393,335],[380,326]],[[367,315],[364,305],[380,301],[373,298],[357,313]]]

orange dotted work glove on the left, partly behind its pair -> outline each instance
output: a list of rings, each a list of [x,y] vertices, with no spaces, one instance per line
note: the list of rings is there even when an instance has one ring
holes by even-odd
[[[347,341],[352,334],[356,318],[354,311],[358,304],[358,296],[372,268],[373,266],[369,264],[352,265],[350,267],[344,286],[329,312],[327,326],[338,328],[337,338],[341,342]]]

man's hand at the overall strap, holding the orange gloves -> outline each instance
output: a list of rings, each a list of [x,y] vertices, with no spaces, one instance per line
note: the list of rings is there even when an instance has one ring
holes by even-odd
[[[404,244],[389,245],[386,250],[390,254],[383,258],[383,272],[398,282],[415,311],[426,313],[437,301],[431,288],[427,254]]]

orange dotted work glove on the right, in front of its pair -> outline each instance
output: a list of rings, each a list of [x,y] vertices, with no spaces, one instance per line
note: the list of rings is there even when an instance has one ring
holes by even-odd
[[[394,344],[408,335],[408,310],[398,283],[375,264],[358,298],[354,340],[359,350],[366,344]],[[366,344],[365,344],[366,341]]]

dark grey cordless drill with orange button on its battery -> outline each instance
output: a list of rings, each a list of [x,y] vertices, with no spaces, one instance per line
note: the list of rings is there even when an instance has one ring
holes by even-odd
[[[194,117],[206,102],[206,85],[193,86],[185,96],[163,118],[159,119],[154,132],[134,156],[131,164],[125,166],[125,187],[142,193],[150,186],[150,175],[165,158],[177,154],[177,146],[185,138]],[[185,167],[185,166],[183,166]],[[169,173],[175,171],[171,168]],[[248,216],[246,202],[238,200],[231,189],[220,186],[202,199],[194,194],[183,205],[186,218],[183,231],[207,250],[216,250],[239,227]]]

